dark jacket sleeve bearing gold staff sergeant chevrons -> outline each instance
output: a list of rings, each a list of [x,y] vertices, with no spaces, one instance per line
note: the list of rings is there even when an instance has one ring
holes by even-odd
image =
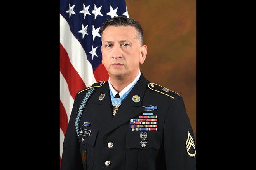
[[[193,129],[183,99],[177,96],[168,110],[164,123],[167,170],[196,170],[195,148]]]

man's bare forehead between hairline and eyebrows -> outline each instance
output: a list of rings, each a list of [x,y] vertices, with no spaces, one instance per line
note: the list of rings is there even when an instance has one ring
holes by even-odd
[[[132,26],[107,26],[102,33],[102,38],[120,37],[120,38],[134,38],[137,31]]]

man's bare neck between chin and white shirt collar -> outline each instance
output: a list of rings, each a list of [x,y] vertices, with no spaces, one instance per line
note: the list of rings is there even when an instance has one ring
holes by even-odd
[[[115,77],[109,76],[109,80],[113,88],[119,93],[121,92],[127,85],[132,83],[132,81],[138,76],[139,72],[135,76],[130,76],[129,78]]]

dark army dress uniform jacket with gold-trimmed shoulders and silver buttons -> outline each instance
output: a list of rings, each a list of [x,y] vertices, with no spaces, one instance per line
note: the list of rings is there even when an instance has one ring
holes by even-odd
[[[90,96],[79,123],[75,119],[90,88]],[[141,76],[113,117],[108,82],[97,82],[75,97],[63,143],[61,170],[195,170],[193,130],[182,97]],[[105,94],[102,99],[101,94]],[[139,102],[133,96],[140,97]],[[101,96],[101,98],[100,98]],[[100,100],[102,99],[102,100]],[[146,113],[143,106],[157,106],[157,131],[131,131],[130,119]],[[84,126],[84,122],[88,122]],[[147,133],[146,146],[141,132]],[[108,147],[112,143],[112,147]]]

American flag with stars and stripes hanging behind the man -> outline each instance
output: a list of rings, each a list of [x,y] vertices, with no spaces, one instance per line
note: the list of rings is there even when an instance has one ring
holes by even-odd
[[[125,0],[60,0],[60,163],[75,95],[108,80],[101,63],[101,25],[108,18],[129,18]],[[74,127],[75,128],[75,127]]]

